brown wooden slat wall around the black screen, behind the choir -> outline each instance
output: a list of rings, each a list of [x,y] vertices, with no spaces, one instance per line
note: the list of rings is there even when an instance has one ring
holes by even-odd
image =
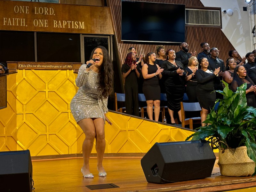
[[[135,1],[145,1],[145,0],[135,0]],[[204,7],[200,0],[147,0],[147,2],[157,2],[157,3],[171,3],[171,4],[185,4],[186,6],[194,7]],[[115,40],[118,49],[117,55],[119,55],[120,66],[124,63],[125,56],[129,47],[135,47],[137,50],[137,55],[143,54],[144,56],[148,52],[155,52],[155,47],[158,44],[147,44],[141,42],[122,42],[121,41],[121,0],[109,0],[108,6],[112,14],[113,25],[115,30]],[[134,15],[136,18],[136,15]],[[207,42],[211,47],[217,47],[220,50],[219,57],[222,60],[228,58],[228,51],[234,50],[234,47],[229,42],[227,37],[223,34],[220,28],[212,27],[191,27],[186,26],[185,28],[185,41],[189,44],[189,51],[197,53],[201,52],[202,49],[200,44],[202,42]],[[176,52],[180,51],[179,44],[163,44],[168,50],[169,48],[174,49]]]

